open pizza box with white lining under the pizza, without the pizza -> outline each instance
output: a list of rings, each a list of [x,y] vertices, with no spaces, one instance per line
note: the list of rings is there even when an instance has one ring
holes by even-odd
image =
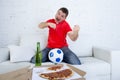
[[[62,68],[58,69],[56,71],[48,70],[48,68],[55,67],[55,66],[62,66]],[[34,67],[32,70],[32,80],[48,80],[46,78],[41,77],[40,74],[59,72],[59,71],[65,70],[65,69],[72,70],[73,74],[69,78],[60,79],[60,80],[85,80],[84,76],[86,75],[86,72],[82,71],[70,64],[43,65],[41,67]]]

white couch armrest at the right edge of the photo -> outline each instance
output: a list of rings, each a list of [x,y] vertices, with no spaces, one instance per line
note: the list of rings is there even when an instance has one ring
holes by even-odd
[[[111,80],[120,80],[120,50],[93,47],[94,57],[111,65]]]

